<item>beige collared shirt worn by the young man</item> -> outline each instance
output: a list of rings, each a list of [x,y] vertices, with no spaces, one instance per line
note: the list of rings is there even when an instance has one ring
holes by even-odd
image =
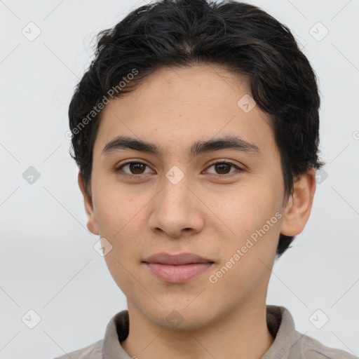
[[[261,359],[358,359],[297,332],[292,315],[284,306],[267,305],[266,320],[275,339]],[[127,336],[128,311],[125,310],[111,318],[104,339],[55,359],[133,359],[120,344]]]

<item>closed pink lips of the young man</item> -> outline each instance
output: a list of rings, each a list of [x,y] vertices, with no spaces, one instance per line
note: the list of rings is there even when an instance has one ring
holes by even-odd
[[[168,255],[161,252],[147,258],[142,263],[154,276],[166,283],[185,283],[208,271],[215,262],[193,253]]]

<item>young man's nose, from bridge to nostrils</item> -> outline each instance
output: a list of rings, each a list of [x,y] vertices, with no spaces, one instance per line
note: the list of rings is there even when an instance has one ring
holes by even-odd
[[[191,188],[193,187],[193,188]],[[202,231],[204,225],[203,203],[186,175],[177,184],[167,178],[163,189],[152,202],[149,217],[151,231],[162,236],[178,238]]]

